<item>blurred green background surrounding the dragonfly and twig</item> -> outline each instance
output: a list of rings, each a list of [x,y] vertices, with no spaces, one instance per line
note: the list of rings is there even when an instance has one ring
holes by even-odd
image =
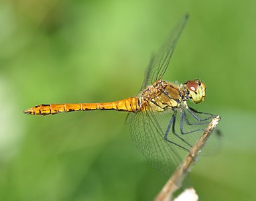
[[[201,78],[196,109],[223,137],[190,180],[200,200],[253,200],[256,2],[0,1],[0,200],[152,200],[167,178],[133,145],[125,113],[24,115],[40,103],[135,96],[184,13],[166,80]]]

